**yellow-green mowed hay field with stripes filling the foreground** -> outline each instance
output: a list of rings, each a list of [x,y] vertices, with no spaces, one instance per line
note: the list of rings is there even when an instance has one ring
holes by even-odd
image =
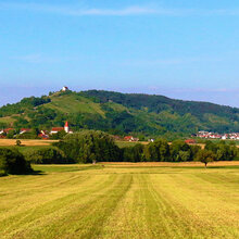
[[[239,238],[239,167],[222,165],[39,165],[1,177],[0,238]]]

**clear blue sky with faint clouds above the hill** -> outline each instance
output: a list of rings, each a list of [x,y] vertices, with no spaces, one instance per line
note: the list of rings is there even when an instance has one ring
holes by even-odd
[[[0,0],[0,105],[67,85],[239,106],[239,1]]]

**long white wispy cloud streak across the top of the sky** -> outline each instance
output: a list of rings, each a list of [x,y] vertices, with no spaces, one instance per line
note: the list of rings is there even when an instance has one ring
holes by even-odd
[[[53,13],[68,16],[127,16],[127,15],[162,15],[162,16],[190,16],[190,15],[239,15],[239,9],[166,9],[156,7],[133,5],[123,9],[90,9],[78,5],[62,4],[40,4],[40,3],[18,3],[0,2],[0,10],[34,11]]]

